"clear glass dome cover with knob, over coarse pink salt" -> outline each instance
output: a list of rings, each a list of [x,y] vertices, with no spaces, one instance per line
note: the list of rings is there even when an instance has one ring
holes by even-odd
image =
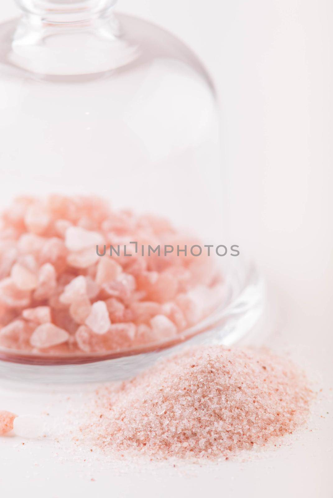
[[[0,179],[1,185],[5,185],[1,191],[1,207],[6,210],[0,232],[0,358],[6,362],[37,365],[113,361],[129,356],[135,361],[135,357],[142,358],[142,354],[169,348],[201,332],[215,334],[215,337],[218,332],[220,339],[230,337],[230,333],[235,332],[235,326],[232,330],[225,326],[230,324],[227,320],[230,316],[247,317],[247,325],[242,325],[234,338],[243,334],[254,320],[255,314],[252,313],[249,319],[248,312],[259,309],[258,282],[253,270],[242,264],[241,256],[232,257],[239,255],[238,246],[226,244],[223,238],[219,112],[214,86],[201,62],[181,41],[163,29],[131,16],[115,15],[111,8],[113,1],[20,0],[17,3],[22,8],[21,18],[0,27],[0,127],[3,137]],[[17,197],[20,200],[8,208]],[[107,214],[97,198],[111,203]],[[54,208],[58,201],[52,199],[62,199],[61,202],[72,208],[75,206],[79,211],[74,216],[74,208],[71,208],[70,215],[64,211],[60,215]],[[82,202],[86,203],[85,207]],[[38,225],[40,219],[47,219],[42,228]],[[115,219],[118,220],[116,233]],[[110,223],[113,224],[112,236]],[[143,226],[145,235],[142,235]],[[80,250],[70,247],[71,230],[78,237],[81,234],[79,239],[83,246]],[[156,245],[162,248],[159,259],[155,253],[149,259],[147,252],[144,255],[140,252],[142,245],[148,246],[152,242],[146,238],[147,231],[150,236],[154,235],[154,248]],[[89,238],[88,232],[90,240],[95,233],[96,240],[91,246],[94,246],[96,257],[91,265],[73,266],[73,252],[82,260],[82,251],[88,249],[83,242]],[[35,237],[34,243],[37,244],[39,238],[38,244],[44,244],[44,249],[33,252],[32,246],[26,245],[27,240],[31,241],[31,234]],[[98,236],[102,236],[102,241]],[[50,304],[51,298],[54,303],[54,295],[36,298],[36,288],[32,287],[28,289],[29,304],[24,306],[9,306],[7,297],[12,288],[15,290],[15,285],[27,285],[27,280],[23,284],[17,283],[22,282],[23,277],[39,282],[43,264],[53,264],[51,254],[45,256],[45,245],[49,250],[51,239],[54,246],[61,246],[66,251],[65,267],[59,269],[54,265],[60,301],[71,280],[83,277],[99,283],[97,268],[102,266],[102,256],[98,256],[98,252],[103,253],[103,243],[108,248],[103,257],[110,259],[110,245],[117,247],[120,244],[123,251],[125,245],[129,248],[136,242],[136,254],[129,257],[134,256],[141,263],[144,260],[142,271],[156,273],[155,282],[160,282],[158,279],[164,278],[166,272],[170,274],[170,268],[186,270],[192,278],[187,284],[177,277],[177,290],[171,297],[168,293],[157,296],[154,283],[152,290],[142,290],[142,275],[138,277],[131,273],[122,252],[123,259],[120,263],[117,260],[121,266],[119,271],[121,278],[128,274],[134,278],[133,293],[127,301],[114,294],[113,288],[113,293],[107,295],[103,287],[106,282],[102,285],[101,280],[99,293],[89,296],[89,306],[94,309],[98,306],[102,309],[102,305],[94,305],[109,300],[111,325],[115,325],[119,320],[110,311],[110,306],[114,305],[110,300],[119,301],[119,306],[128,311],[133,308],[135,294],[141,304],[153,302],[160,308],[154,308],[155,315],[147,315],[143,322],[133,313],[127,314],[126,319],[123,317],[124,322],[133,323],[135,327],[131,334],[135,336],[141,325],[154,330],[156,320],[151,320],[156,315],[171,321],[176,333],[137,341],[133,347],[122,344],[113,349],[78,351],[75,346],[72,352],[66,350],[66,354],[60,343],[47,346],[46,341],[46,346],[41,347],[42,343],[37,341],[35,344],[39,346],[34,346],[31,334],[35,334],[37,327],[42,327],[46,334],[47,327],[44,322],[37,323],[36,313],[31,315],[26,309],[49,307],[51,318],[44,316],[43,320],[59,327],[58,308]],[[54,239],[60,242],[54,242]],[[186,244],[190,262],[183,257]],[[169,249],[172,255],[165,253],[165,245],[173,246],[172,251]],[[195,253],[193,246],[197,247]],[[196,253],[198,247],[202,249],[201,254]],[[14,254],[12,259],[8,254]],[[112,261],[114,258],[115,253],[111,255]],[[207,277],[213,260],[219,269],[215,276]],[[33,276],[27,276],[26,270]],[[153,279],[155,276],[150,275]],[[212,291],[218,283],[222,287],[220,297]],[[160,284],[165,291],[167,285],[163,285]],[[170,285],[174,287],[173,283]],[[203,290],[203,286],[210,289],[211,297],[206,300],[214,301],[214,306],[209,308],[209,313],[199,314],[194,320],[192,315],[198,306],[195,302],[190,313],[192,318],[179,326],[179,321],[177,324],[170,314],[170,306],[179,307],[184,299],[179,295],[194,289],[198,296],[198,287],[200,306],[203,292],[207,290]],[[62,304],[66,308],[62,312],[70,315],[73,303]],[[181,312],[185,313],[183,308]],[[1,335],[2,338],[16,337],[17,330],[13,332],[10,325],[17,320],[23,322],[23,328],[26,322],[29,323],[29,331],[24,329],[28,334],[27,348],[15,347],[18,345],[16,339],[10,347],[6,341],[1,344]],[[159,331],[163,323],[166,322],[160,319]],[[76,344],[75,327],[88,325],[80,318],[75,326],[60,327],[69,334],[68,344]],[[38,330],[40,339],[42,332]],[[100,332],[95,334],[99,336]],[[91,337],[98,342],[97,336]]]

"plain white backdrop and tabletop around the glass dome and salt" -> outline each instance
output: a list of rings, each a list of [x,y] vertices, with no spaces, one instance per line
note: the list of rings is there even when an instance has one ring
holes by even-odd
[[[118,8],[173,31],[211,71],[222,107],[228,231],[267,276],[275,310],[265,343],[291,352],[323,399],[312,432],[290,445],[185,475],[119,474],[96,460],[87,470],[48,442],[23,447],[3,438],[1,496],[332,497],[333,2],[122,0]],[[1,20],[16,13],[13,2],[1,4]],[[42,409],[37,395],[0,397],[5,409],[21,411],[23,401],[27,412]]]

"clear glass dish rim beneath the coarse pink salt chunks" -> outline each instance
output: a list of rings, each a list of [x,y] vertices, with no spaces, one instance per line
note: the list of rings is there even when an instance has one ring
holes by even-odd
[[[116,354],[80,354],[72,357],[0,351],[0,378],[40,383],[118,381],[134,376],[160,358],[187,346],[231,345],[253,328],[262,315],[264,282],[256,268],[239,265],[226,274],[225,301],[209,317],[179,334],[177,339]]]

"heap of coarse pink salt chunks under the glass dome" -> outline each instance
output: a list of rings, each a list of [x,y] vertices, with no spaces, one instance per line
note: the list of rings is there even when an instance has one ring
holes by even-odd
[[[164,219],[112,211],[99,198],[51,195],[17,198],[0,223],[1,348],[66,355],[158,344],[221,302],[212,258],[164,256],[166,244],[198,244]],[[142,256],[133,241],[161,245],[162,253]]]

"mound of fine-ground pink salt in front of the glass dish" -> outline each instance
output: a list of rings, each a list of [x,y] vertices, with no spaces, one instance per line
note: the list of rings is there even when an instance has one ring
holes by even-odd
[[[82,430],[121,454],[228,458],[292,433],[311,397],[304,374],[285,359],[202,346],[99,391]]]

